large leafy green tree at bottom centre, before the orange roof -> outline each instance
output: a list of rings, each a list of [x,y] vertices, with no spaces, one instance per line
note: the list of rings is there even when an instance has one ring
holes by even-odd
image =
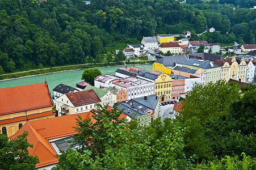
[[[183,169],[191,165],[192,158],[186,159],[182,152],[186,128],[179,123],[170,125],[169,119],[162,124],[158,118],[152,127],[141,129],[136,121],[125,124],[118,119],[121,111],[116,106],[111,111],[97,106],[96,122],[77,120],[78,142],[83,146],[90,141],[87,147],[68,150],[59,169],[67,164],[75,169]]]

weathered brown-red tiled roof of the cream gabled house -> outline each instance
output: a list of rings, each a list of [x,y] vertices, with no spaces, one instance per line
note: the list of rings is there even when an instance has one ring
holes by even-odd
[[[65,94],[74,107],[100,102],[99,96],[93,89]]]

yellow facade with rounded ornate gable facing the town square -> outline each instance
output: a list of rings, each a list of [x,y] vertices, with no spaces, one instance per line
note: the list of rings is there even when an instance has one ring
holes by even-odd
[[[171,77],[163,73],[156,79],[155,95],[160,97],[160,101],[171,100]]]

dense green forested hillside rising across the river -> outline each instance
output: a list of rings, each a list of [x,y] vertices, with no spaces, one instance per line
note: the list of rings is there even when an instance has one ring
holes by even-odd
[[[256,10],[217,1],[2,0],[0,10],[0,74],[92,62],[160,33],[189,30],[191,39],[249,44],[256,35]],[[220,32],[197,37],[206,25]]]

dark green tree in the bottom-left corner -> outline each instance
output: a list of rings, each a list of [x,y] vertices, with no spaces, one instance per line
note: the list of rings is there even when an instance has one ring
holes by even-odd
[[[27,140],[27,131],[9,141],[7,135],[0,134],[1,169],[35,169],[39,163],[37,156],[31,156],[28,147],[33,147]]]

